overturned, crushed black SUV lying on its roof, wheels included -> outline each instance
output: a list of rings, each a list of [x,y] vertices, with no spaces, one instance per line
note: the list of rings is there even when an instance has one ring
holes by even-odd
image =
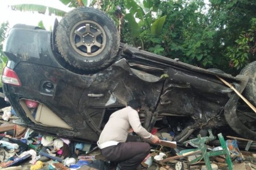
[[[88,7],[67,13],[52,32],[15,25],[4,53],[4,94],[16,123],[35,131],[97,141],[109,116],[136,98],[143,126],[151,131],[165,119],[176,141],[227,125],[256,140],[256,116],[216,77],[255,105],[255,62],[233,77],[130,47],[108,16]]]

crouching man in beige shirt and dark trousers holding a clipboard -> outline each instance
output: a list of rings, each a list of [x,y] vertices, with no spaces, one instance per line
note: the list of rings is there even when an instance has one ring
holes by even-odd
[[[125,142],[128,133],[134,131],[152,143],[160,143],[159,138],[147,132],[140,123],[138,112],[141,104],[131,100],[127,105],[110,116],[98,141],[102,155],[110,161],[118,162],[116,170],[134,170],[150,153],[148,143]]]

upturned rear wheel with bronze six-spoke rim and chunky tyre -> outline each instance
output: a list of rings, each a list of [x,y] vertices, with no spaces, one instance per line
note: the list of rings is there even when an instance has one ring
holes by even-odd
[[[68,12],[59,22],[56,44],[70,65],[99,70],[115,62],[120,39],[114,21],[104,12],[80,7]]]

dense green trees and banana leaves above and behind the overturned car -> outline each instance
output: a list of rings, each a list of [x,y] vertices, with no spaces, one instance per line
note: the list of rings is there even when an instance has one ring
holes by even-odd
[[[87,4],[60,1],[69,7]],[[207,9],[204,0],[102,0],[100,6],[115,21],[124,43],[198,67],[237,73],[255,60],[256,1],[209,1]],[[93,0],[90,6],[98,2]],[[15,9],[45,13],[46,8]]]

